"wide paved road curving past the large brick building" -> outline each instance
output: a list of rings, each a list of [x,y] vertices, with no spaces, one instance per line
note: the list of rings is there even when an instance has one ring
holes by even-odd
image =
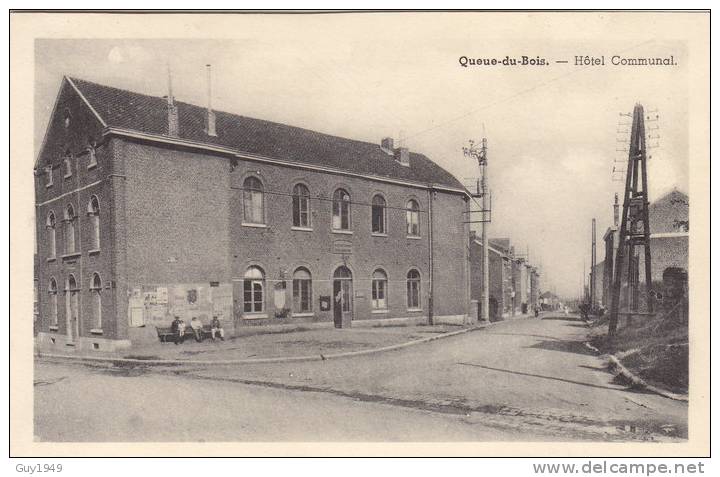
[[[547,316],[321,362],[36,364],[46,441],[674,441],[687,405],[613,383],[584,325]],[[173,415],[174,417],[171,417]]]

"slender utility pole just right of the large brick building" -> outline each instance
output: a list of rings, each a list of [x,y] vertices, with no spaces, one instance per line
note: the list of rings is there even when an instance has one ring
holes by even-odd
[[[482,251],[483,251],[483,273],[482,273],[482,296],[480,302],[480,319],[483,321],[490,321],[490,273],[489,273],[489,260],[488,260],[488,224],[490,223],[491,217],[487,215],[490,212],[490,202],[487,186],[487,139],[482,138],[480,147],[475,145],[475,142],[470,140],[468,147],[463,147],[463,153],[466,157],[475,159],[478,161],[480,167],[480,180],[476,185],[475,194],[472,194],[474,198],[480,198],[482,200],[481,210],[473,211],[480,212],[480,220],[468,220],[467,223],[478,223],[482,226]]]

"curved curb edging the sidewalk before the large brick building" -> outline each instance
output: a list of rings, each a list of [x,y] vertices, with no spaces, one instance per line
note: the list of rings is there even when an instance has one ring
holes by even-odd
[[[492,325],[493,323],[482,323],[475,325],[471,328],[465,328],[458,331],[451,331],[449,333],[442,333],[436,336],[428,336],[427,338],[420,338],[417,340],[410,340],[404,343],[395,345],[382,346],[380,348],[372,348],[358,351],[346,351],[344,353],[333,353],[333,354],[318,354],[308,356],[288,356],[279,358],[257,358],[257,359],[226,359],[226,360],[190,360],[190,359],[138,359],[138,358],[113,358],[109,356],[71,356],[65,354],[53,354],[36,352],[36,358],[51,358],[59,360],[69,361],[88,361],[88,362],[102,362],[102,363],[119,363],[119,364],[144,364],[144,365],[158,365],[158,366],[178,366],[183,364],[189,364],[194,366],[208,366],[208,365],[229,365],[229,364],[270,364],[270,363],[293,363],[293,362],[304,362],[304,361],[326,361],[330,359],[339,358],[350,358],[354,356],[363,356],[375,353],[382,353],[385,351],[393,351],[396,349],[407,348],[423,343],[429,343],[444,338],[450,338],[470,331],[482,330]]]

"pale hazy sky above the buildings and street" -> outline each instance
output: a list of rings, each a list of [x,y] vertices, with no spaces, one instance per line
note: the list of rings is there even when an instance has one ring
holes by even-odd
[[[462,147],[484,134],[490,237],[509,237],[516,251],[529,250],[544,290],[578,295],[590,263],[591,220],[597,219],[601,244],[614,193],[622,198],[624,177],[612,174],[627,162],[616,151],[627,141],[618,130],[629,129],[619,126],[629,122],[620,113],[640,102],[659,116],[648,124],[660,136],[648,141],[658,145],[648,161],[650,200],[673,188],[688,191],[684,43],[658,40],[652,23],[621,40],[605,34],[603,28],[619,27],[603,18],[568,27],[572,41],[537,23],[528,35],[512,28],[521,22],[483,29],[477,15],[442,19],[248,15],[233,19],[232,38],[36,40],[36,149],[63,75],[162,96],[169,65],[175,97],[204,105],[208,63],[216,110],[374,143],[402,135],[412,151],[467,185],[479,172]],[[678,64],[574,65],[575,55],[605,55],[608,63],[614,54],[673,55]],[[549,65],[459,64],[461,56],[506,55],[539,56]]]

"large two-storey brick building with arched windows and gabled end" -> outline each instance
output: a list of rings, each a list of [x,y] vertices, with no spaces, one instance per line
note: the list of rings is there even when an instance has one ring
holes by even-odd
[[[468,195],[395,147],[64,78],[35,165],[38,340],[174,316],[468,319]]]

